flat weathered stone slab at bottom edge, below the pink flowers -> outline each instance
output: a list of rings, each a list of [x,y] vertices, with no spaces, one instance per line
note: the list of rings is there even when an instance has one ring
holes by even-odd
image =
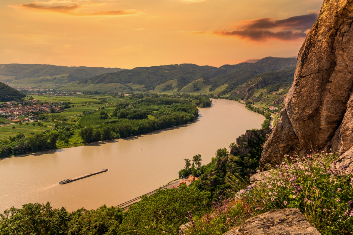
[[[321,235],[297,208],[270,210],[223,235]]]

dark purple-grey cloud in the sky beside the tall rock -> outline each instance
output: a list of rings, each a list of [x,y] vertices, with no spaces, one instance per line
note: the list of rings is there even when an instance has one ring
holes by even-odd
[[[213,31],[213,34],[221,36],[237,36],[252,41],[265,41],[278,39],[282,41],[305,38],[306,33],[315,23],[318,14],[312,12],[303,16],[294,16],[283,20],[271,18],[243,21],[233,31]]]

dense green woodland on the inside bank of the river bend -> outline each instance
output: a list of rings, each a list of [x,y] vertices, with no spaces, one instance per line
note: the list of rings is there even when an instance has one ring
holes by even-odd
[[[84,113],[85,116],[79,120],[79,124],[86,126],[80,131],[82,140],[90,143],[98,140],[125,138],[186,124],[198,116],[197,105],[200,107],[211,105],[209,98],[190,95],[140,93],[130,95],[130,98],[130,102],[117,103],[114,110]],[[148,119],[148,115],[155,118]],[[98,131],[94,133],[89,125],[97,125],[96,128],[100,130],[101,138],[98,138]]]

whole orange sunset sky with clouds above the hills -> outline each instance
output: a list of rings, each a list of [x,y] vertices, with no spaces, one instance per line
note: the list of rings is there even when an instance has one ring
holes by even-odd
[[[1,0],[0,64],[131,69],[297,56],[322,0]]]

